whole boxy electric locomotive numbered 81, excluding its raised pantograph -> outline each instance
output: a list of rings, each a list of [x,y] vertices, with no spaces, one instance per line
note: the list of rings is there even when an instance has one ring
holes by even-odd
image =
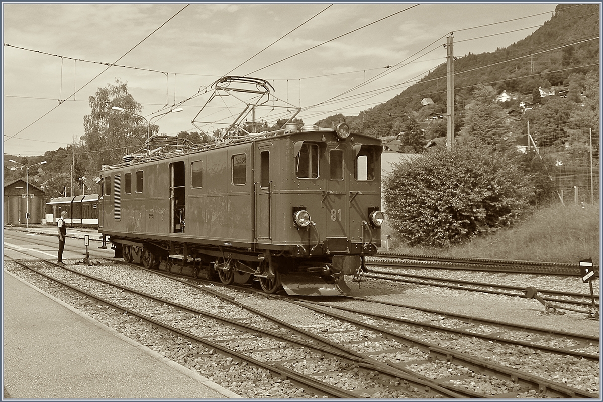
[[[288,124],[146,152],[99,176],[116,257],[266,292],[340,294],[380,246],[377,138]]]

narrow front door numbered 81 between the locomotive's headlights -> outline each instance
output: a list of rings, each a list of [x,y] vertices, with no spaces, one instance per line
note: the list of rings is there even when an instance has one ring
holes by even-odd
[[[349,205],[347,191],[349,181],[346,180],[344,144],[327,148],[329,175],[324,181],[323,191],[324,222],[326,241],[330,252],[345,252],[347,250],[347,222],[349,221]],[[348,151],[349,152],[349,151]]]

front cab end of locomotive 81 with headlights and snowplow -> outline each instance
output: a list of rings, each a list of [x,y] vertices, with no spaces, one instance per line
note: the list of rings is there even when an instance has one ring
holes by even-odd
[[[345,286],[343,275],[358,273],[364,256],[380,247],[380,141],[350,136],[349,129],[340,137],[337,129],[305,126],[279,144],[258,144],[264,166],[261,155],[274,146],[286,158],[279,159],[282,166],[276,178],[264,179],[265,186],[259,186],[257,240],[269,247],[274,235],[278,243],[290,246],[296,268],[288,264],[280,275],[290,294],[317,289],[335,294]],[[264,202],[262,188],[268,196]],[[301,271],[320,275],[301,275]]]

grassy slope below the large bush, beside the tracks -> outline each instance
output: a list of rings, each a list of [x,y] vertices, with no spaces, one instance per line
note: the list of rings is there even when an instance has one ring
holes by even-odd
[[[592,258],[599,264],[599,204],[555,204],[541,208],[529,220],[513,229],[475,238],[468,244],[449,249],[394,245],[390,252],[459,258],[494,258],[520,261],[547,261],[578,264]],[[391,233],[388,229],[385,234]],[[395,238],[395,235],[392,236]]]

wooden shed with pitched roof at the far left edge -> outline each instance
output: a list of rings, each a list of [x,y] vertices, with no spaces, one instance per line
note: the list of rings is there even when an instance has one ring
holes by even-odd
[[[44,190],[30,183],[30,224],[40,224],[46,216]],[[4,184],[4,224],[25,225],[27,212],[27,181],[16,179]]]

